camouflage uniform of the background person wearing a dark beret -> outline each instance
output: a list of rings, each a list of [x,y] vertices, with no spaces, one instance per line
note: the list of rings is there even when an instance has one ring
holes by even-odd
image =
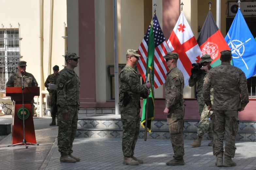
[[[56,76],[54,74],[50,74],[45,83],[44,83],[44,86],[47,88],[48,92],[49,92],[49,104],[51,106],[51,116],[52,118],[56,118],[56,111],[57,111],[57,108],[56,108],[56,99],[57,99],[57,93],[56,93],[56,90],[50,90],[49,89],[49,86],[48,84],[49,83],[52,83],[54,85],[56,85]]]

